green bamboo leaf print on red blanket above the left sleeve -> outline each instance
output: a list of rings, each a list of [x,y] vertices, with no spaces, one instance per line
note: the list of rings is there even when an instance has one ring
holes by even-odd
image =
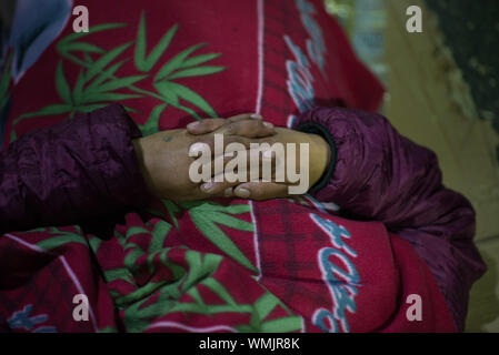
[[[221,72],[226,67],[204,65],[218,58],[221,53],[204,53],[194,55],[194,52],[207,43],[191,45],[180,53],[173,54],[162,65],[158,65],[164,58],[170,43],[179,37],[179,24],[172,26],[148,53],[147,18],[142,12],[137,38],[112,49],[103,49],[84,41],[86,37],[103,31],[119,30],[126,23],[102,23],[90,28],[89,32],[71,33],[57,43],[61,60],[54,70],[54,85],[60,102],[49,104],[36,112],[23,113],[13,120],[13,125],[29,118],[86,113],[101,109],[116,101],[130,99],[153,98],[158,104],[152,109],[148,121],[139,124],[144,135],[158,132],[159,119],[169,106],[181,110],[192,118],[201,116],[194,109],[201,110],[208,116],[217,116],[213,108],[197,92],[180,83],[183,78],[211,75]],[[133,58],[124,57],[133,47]],[[117,72],[129,60],[133,60],[138,73],[119,77]],[[70,83],[64,72],[66,63],[80,67],[77,80]],[[154,91],[138,87],[143,81],[152,81]],[[128,102],[127,102],[128,104]],[[128,111],[138,112],[138,109],[126,106]],[[140,109],[139,109],[140,110]],[[12,130],[11,141],[16,140],[16,130]]]

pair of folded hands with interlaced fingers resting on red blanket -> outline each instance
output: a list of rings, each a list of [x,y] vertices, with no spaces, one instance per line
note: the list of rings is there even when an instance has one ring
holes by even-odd
[[[322,176],[330,160],[329,144],[317,134],[275,128],[260,115],[246,113],[229,119],[206,119],[192,122],[186,129],[161,131],[133,140],[133,145],[146,184],[152,195],[171,201],[206,200],[210,197],[239,197],[270,200],[289,195],[289,181],[278,182],[250,180],[247,182],[194,183],[189,178],[189,168],[196,156],[189,154],[196,144],[213,148],[214,134],[223,134],[224,148],[230,143],[241,143],[250,153],[251,143],[300,143],[309,144],[309,187]],[[213,150],[211,150],[213,151]],[[239,154],[240,152],[238,152]],[[288,154],[288,153],[287,153]],[[299,152],[296,152],[299,160]],[[213,155],[214,160],[216,156]],[[228,160],[223,160],[227,164]],[[248,159],[249,162],[249,159]],[[214,166],[214,164],[211,164]],[[249,171],[249,169],[248,169]],[[262,169],[260,169],[262,171]],[[212,171],[212,176],[214,175]],[[272,175],[273,178],[273,175]]]

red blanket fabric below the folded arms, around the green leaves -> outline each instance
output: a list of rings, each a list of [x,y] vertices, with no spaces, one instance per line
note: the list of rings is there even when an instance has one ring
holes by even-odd
[[[450,313],[425,262],[406,241],[387,233],[381,223],[348,221],[319,213],[311,206],[297,206],[286,200],[253,204],[252,213],[258,230],[255,239],[248,233],[227,232],[253,265],[260,265],[261,273],[258,281],[250,277],[255,273],[229,257],[223,257],[222,264],[211,275],[229,290],[238,304],[252,304],[265,294],[265,290],[268,290],[289,307],[293,315],[302,317],[301,329],[305,332],[320,331],[317,326],[319,322],[316,318],[317,312],[326,310],[333,314],[335,307],[339,312],[337,320],[333,324],[325,321],[325,326],[336,332],[456,331]],[[346,247],[335,247],[332,234],[325,233],[325,230],[313,222],[312,216],[345,227],[350,237],[341,240],[356,256],[349,254]],[[151,231],[157,223],[158,220],[153,219],[143,224],[138,215],[129,214],[126,224],[118,226],[117,235],[126,235],[131,229],[143,227],[144,232],[132,236],[129,243],[147,248]],[[74,227],[67,227],[60,229],[57,234],[61,231],[80,233]],[[2,288],[0,315],[3,320],[12,320],[13,310],[22,310],[27,304],[31,304],[34,305],[34,310],[29,315],[48,315],[49,320],[42,325],[53,326],[58,332],[109,328],[143,331],[136,324],[146,321],[129,311],[132,306],[124,307],[119,316],[116,315],[113,310],[117,305],[113,307],[111,295],[132,295],[138,287],[149,283],[167,281],[168,284],[168,281],[172,283],[178,280],[171,270],[159,262],[159,257],[156,257],[156,271],[151,277],[147,272],[147,258],[150,255],[148,254],[141,256],[133,268],[129,268],[136,285],[122,278],[106,284],[99,276],[88,246],[84,245],[84,239],[81,239],[82,243],[67,243],[50,252],[34,245],[54,235],[56,233],[47,231],[18,232],[7,234],[0,240],[2,254],[0,268],[9,270],[10,273],[9,277],[2,277],[0,285]],[[172,230],[168,234],[163,247],[172,248],[169,253],[171,263],[187,268],[189,264],[186,262],[186,253],[189,251],[199,251],[201,255],[209,253],[224,255],[214,245],[207,243],[188,219],[181,221],[179,230]],[[337,256],[328,258],[330,264],[320,262],[319,255],[325,248],[333,248],[338,253]],[[131,252],[130,247],[123,248],[117,236],[103,241],[96,253],[99,268],[108,271],[127,267],[126,257]],[[345,261],[349,261],[350,266]],[[321,268],[323,266],[326,268]],[[337,267],[336,295],[349,297],[355,308],[339,307],[345,298],[343,302],[339,298],[333,301],[332,288],[328,287],[323,274],[323,270],[328,267],[331,270]],[[350,278],[355,271],[358,272],[358,282]],[[350,294],[351,286],[357,288],[358,293],[355,296]],[[223,304],[219,296],[208,288],[200,287],[200,291],[207,304]],[[158,302],[160,292],[161,288],[151,293],[151,297],[143,305]],[[72,310],[76,306],[72,298],[79,293],[84,293],[89,297],[90,322],[72,320]],[[421,322],[410,322],[407,318],[410,304],[406,301],[411,294],[417,294],[422,300]],[[188,293],[176,300],[178,304],[191,302],[192,298]],[[285,310],[278,307],[268,320],[278,320],[286,315]],[[158,312],[146,317],[146,329],[171,332],[182,329],[180,325],[183,325],[191,329],[211,327],[228,331],[249,323],[249,316],[250,314],[238,312],[216,316],[173,311],[162,315]],[[277,331],[285,329],[277,328]]]

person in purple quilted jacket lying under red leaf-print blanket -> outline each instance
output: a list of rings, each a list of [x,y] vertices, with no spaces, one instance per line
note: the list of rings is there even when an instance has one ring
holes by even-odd
[[[0,331],[463,331],[475,211],[321,1],[43,1],[2,42]],[[307,193],[192,182],[219,134],[308,143]]]

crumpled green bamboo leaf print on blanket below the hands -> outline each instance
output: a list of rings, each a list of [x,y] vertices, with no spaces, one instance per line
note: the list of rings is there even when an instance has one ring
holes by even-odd
[[[200,211],[206,207],[198,202],[186,202],[181,205],[182,207],[198,207]],[[174,206],[174,210],[180,210],[179,206]],[[227,206],[213,204],[211,209],[219,214],[241,214],[250,211],[250,206],[243,204]],[[233,222],[232,219],[227,220],[228,224],[232,225]],[[241,324],[234,326],[239,332],[297,332],[301,329],[301,317],[293,315],[279,298],[265,287],[261,290],[262,294],[257,298],[250,302],[238,301],[240,298],[236,298],[231,288],[226,284],[228,278],[220,278],[220,275],[226,272],[217,273],[222,263],[227,263],[227,257],[189,250],[184,246],[164,247],[170,231],[169,223],[156,220],[147,222],[144,225],[132,225],[126,230],[124,235],[116,232],[116,236],[121,243],[118,245],[122,245],[127,253],[122,266],[117,265],[102,270],[102,276],[108,283],[114,306],[122,311],[128,332],[143,332],[154,321],[174,313],[190,314],[187,315],[188,317],[199,315],[210,318],[230,313],[247,314],[248,317],[244,320],[249,321],[242,321]],[[101,244],[108,243],[96,236],[89,236],[87,242],[78,226],[63,231],[57,227],[44,227],[31,232],[54,233],[37,243],[37,246],[46,251],[78,243],[97,255]],[[144,243],[144,239],[149,242]],[[146,283],[139,284],[136,277],[144,267],[150,277]],[[164,274],[164,270],[170,273]],[[154,278],[154,275],[167,276]],[[119,287],[116,288],[113,285],[119,285]],[[190,297],[186,298],[184,295]],[[271,315],[276,314],[275,311],[278,308],[285,314],[276,318]],[[113,329],[109,328],[109,331]]]

